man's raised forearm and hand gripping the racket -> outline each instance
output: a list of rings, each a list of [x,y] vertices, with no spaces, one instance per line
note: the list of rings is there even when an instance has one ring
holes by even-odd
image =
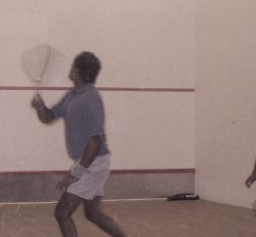
[[[36,110],[37,116],[42,122],[49,123],[55,119],[53,113],[46,107],[46,103],[40,95],[32,98],[31,105]]]

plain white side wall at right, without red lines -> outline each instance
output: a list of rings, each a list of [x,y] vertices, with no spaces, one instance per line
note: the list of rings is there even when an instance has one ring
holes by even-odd
[[[251,208],[256,134],[256,1],[195,1],[195,190]]]

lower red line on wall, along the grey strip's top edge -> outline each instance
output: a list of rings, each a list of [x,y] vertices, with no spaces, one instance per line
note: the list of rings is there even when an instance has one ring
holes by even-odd
[[[28,172],[0,172],[0,176],[9,175],[64,175],[68,171],[28,171]],[[152,169],[152,170],[112,170],[111,174],[145,174],[145,173],[194,173],[194,169]]]

